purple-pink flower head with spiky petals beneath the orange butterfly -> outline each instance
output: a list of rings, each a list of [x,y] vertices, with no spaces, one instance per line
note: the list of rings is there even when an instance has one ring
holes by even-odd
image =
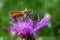
[[[16,20],[16,19],[15,19]],[[10,22],[11,23],[11,22]],[[41,19],[38,15],[38,22],[34,23],[34,21],[28,17],[28,19],[21,19],[17,22],[11,23],[12,27],[7,28],[7,30],[14,31],[18,35],[22,37],[26,37],[27,35],[35,34],[36,31],[42,29],[46,25],[50,23],[50,15],[45,14],[44,18]]]

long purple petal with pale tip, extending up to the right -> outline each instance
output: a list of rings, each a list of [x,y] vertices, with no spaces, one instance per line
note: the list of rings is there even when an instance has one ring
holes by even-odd
[[[50,23],[50,15],[45,14],[44,18],[41,20],[41,22],[38,22],[36,24],[36,28],[34,31],[37,31],[38,29],[42,29],[44,26],[48,25]]]

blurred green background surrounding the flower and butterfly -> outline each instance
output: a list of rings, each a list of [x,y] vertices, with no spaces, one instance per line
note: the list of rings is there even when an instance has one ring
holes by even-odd
[[[10,11],[25,8],[36,10],[41,19],[45,12],[51,15],[51,23],[37,32],[36,40],[60,40],[60,0],[0,0],[0,40],[19,40],[3,27],[9,27],[13,21]]]

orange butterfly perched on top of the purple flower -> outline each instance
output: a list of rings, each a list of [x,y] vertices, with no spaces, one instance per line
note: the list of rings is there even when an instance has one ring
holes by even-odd
[[[11,16],[12,17],[16,17],[16,18],[18,18],[18,17],[22,17],[22,16],[24,16],[24,15],[29,15],[30,13],[31,13],[32,11],[31,10],[23,10],[23,11],[12,11],[12,12],[10,12],[10,14],[11,14]]]

